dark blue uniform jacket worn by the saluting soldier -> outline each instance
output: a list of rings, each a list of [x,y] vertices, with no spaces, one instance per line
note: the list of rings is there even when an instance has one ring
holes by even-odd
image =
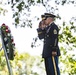
[[[52,56],[52,51],[56,51],[57,56],[60,56],[58,47],[58,26],[55,23],[52,23],[45,29],[38,28],[37,32],[39,39],[44,39],[42,57],[46,58]]]

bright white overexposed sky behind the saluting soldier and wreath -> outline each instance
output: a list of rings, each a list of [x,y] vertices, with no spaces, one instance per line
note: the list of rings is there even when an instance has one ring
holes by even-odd
[[[52,6],[55,6],[54,3],[51,3]],[[16,49],[19,53],[28,52],[31,55],[41,55],[43,49],[43,42],[38,40],[37,44],[40,43],[41,45],[36,48],[31,48],[31,42],[33,41],[34,37],[37,37],[38,22],[34,20],[33,28],[15,28],[12,25],[12,11],[9,6],[0,6],[4,9],[7,9],[8,12],[6,16],[0,15],[0,25],[5,23],[11,29],[12,35],[14,36],[14,42],[16,43]],[[41,8],[41,9],[40,9]],[[76,16],[76,7],[73,5],[65,5],[65,6],[58,6],[59,14],[62,17],[62,21],[69,21],[72,16]],[[43,6],[35,6],[31,7],[32,17],[39,16],[46,12]],[[10,15],[9,15],[10,14]],[[57,21],[57,24],[62,23],[62,21]]]

